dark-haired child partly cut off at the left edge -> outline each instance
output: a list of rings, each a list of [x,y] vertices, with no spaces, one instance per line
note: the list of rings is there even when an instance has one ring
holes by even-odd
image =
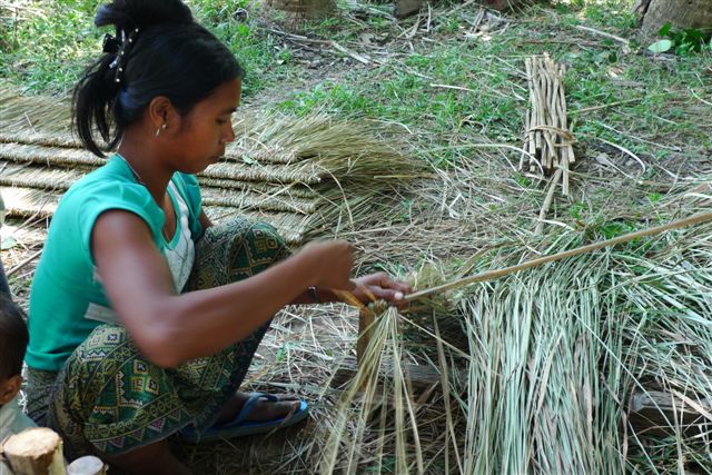
[[[23,311],[0,293],[0,446],[13,434],[34,423],[22,413],[18,393],[22,384],[22,360],[29,336]],[[10,473],[0,462],[0,474]]]

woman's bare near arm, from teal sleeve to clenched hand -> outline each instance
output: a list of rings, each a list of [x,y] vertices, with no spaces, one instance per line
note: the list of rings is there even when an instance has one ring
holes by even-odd
[[[235,284],[177,295],[146,222],[122,210],[96,221],[91,249],[107,295],[138,349],[175,367],[214,355],[251,335],[306,286],[348,289],[353,248],[309,245],[297,255]]]

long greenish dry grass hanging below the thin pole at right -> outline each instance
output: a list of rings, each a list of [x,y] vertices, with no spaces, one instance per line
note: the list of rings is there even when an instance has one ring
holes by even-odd
[[[668,220],[681,205],[711,204],[709,194],[682,195],[649,212]],[[585,239],[558,232],[541,250]],[[449,296],[456,311],[389,310],[337,407],[322,473],[709,471],[711,245],[708,222],[472,286]],[[527,254],[502,248],[474,267]],[[442,337],[453,319],[465,352]],[[404,340],[407,326],[435,344]],[[383,359],[395,368],[386,379],[375,370]],[[441,375],[426,404],[403,374],[412,360]],[[376,416],[374,399],[386,408]],[[634,399],[647,400],[646,414]]]

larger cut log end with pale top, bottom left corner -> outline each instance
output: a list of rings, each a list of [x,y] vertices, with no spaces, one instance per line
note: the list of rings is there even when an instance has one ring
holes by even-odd
[[[2,453],[16,475],[65,475],[62,439],[47,427],[32,427],[10,436]]]

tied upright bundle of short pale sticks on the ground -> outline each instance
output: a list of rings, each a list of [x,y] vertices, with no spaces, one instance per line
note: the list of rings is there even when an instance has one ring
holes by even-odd
[[[568,169],[575,161],[572,144],[574,137],[568,130],[566,97],[562,83],[565,68],[556,65],[547,53],[525,59],[526,79],[530,89],[530,110],[525,118],[523,149],[520,168],[532,174],[551,175],[562,180],[562,194],[568,195]],[[552,184],[552,187],[556,184]]]

